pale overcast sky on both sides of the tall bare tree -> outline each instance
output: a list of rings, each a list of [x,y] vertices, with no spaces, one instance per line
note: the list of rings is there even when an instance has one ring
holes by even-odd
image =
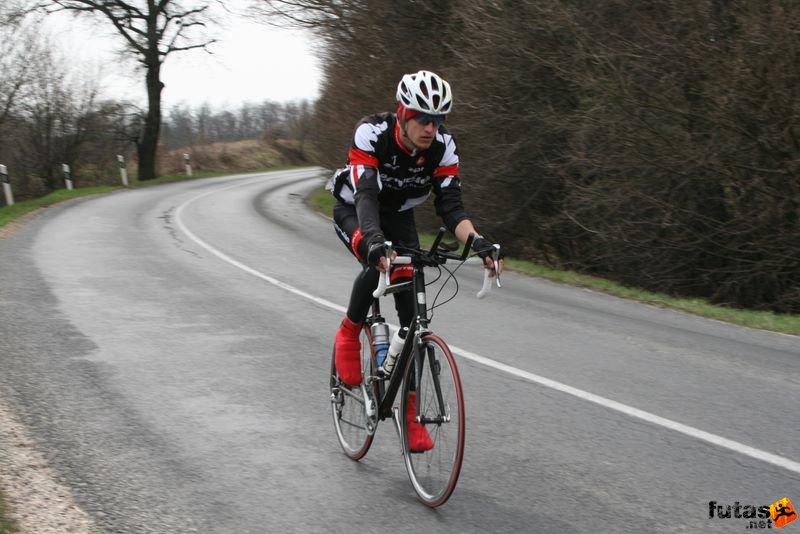
[[[233,4],[235,2],[226,2]],[[243,102],[288,102],[318,96],[320,69],[311,36],[276,29],[241,16],[227,16],[213,29],[213,54],[191,50],[171,54],[162,68],[166,107],[209,103],[215,108]],[[107,27],[106,27],[107,25]],[[121,37],[100,18],[48,15],[46,27],[64,55],[74,58],[87,76],[99,77],[103,95],[144,104],[144,74],[133,74],[133,61],[113,53]]]

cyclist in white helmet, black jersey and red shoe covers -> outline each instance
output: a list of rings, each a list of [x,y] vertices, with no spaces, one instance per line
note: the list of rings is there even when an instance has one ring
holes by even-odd
[[[461,242],[471,233],[477,235],[461,200],[456,143],[443,125],[452,107],[450,84],[437,74],[421,70],[404,75],[397,86],[396,113],[369,115],[356,124],[347,166],[332,178],[336,233],[364,267],[336,333],[336,371],[346,385],[355,386],[362,380],[359,336],[378,272],[388,269],[384,242],[419,248],[414,208],[431,190],[437,215]],[[492,243],[478,236],[472,246],[494,275]],[[502,272],[502,260],[498,264]],[[391,281],[410,278],[412,273],[409,265],[392,267]],[[400,324],[408,326],[413,319],[414,295],[406,291],[394,297]],[[429,450],[433,447],[430,436],[423,425],[413,421],[416,399],[409,401],[411,450]]]

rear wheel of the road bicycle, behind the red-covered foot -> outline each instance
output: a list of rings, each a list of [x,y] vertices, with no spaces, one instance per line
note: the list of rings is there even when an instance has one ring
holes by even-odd
[[[361,369],[365,380],[358,386],[347,386],[336,374],[336,347],[331,357],[330,388],[331,415],[336,437],[342,450],[351,460],[360,460],[367,454],[378,425],[375,396],[376,382],[374,358],[369,329],[361,330]]]

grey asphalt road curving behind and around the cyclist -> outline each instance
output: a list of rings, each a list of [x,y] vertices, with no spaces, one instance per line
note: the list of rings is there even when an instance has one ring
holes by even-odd
[[[737,532],[710,501],[800,506],[800,339],[513,273],[478,301],[479,268],[433,321],[467,402],[450,501],[418,503],[389,422],[348,460],[327,372],[358,267],[304,207],[323,174],[122,191],[0,239],[0,398],[101,529]]]

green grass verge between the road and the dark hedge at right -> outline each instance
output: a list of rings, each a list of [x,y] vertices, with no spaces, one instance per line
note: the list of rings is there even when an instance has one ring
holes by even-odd
[[[314,193],[309,198],[309,204],[325,215],[331,216],[333,213],[333,196],[324,189]],[[433,237],[421,235],[420,240],[431,243]],[[572,271],[560,271],[515,258],[506,258],[504,263],[507,270],[544,278],[553,282],[584,287],[609,295],[637,300],[662,308],[680,310],[740,326],[800,335],[800,315],[725,308],[699,298],[679,298],[661,293],[651,293],[637,288],[626,287],[604,278]]]

